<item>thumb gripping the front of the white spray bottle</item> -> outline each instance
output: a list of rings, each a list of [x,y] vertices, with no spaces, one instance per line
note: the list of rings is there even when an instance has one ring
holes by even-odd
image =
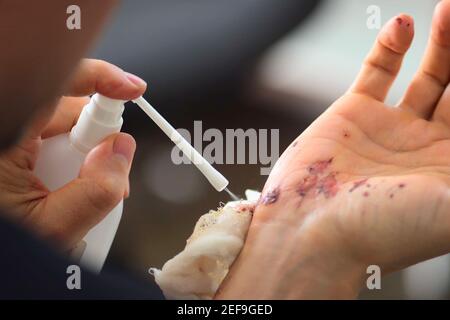
[[[136,144],[117,133],[86,157],[77,179],[50,193],[42,223],[47,237],[71,247],[99,223],[128,193],[128,175]]]

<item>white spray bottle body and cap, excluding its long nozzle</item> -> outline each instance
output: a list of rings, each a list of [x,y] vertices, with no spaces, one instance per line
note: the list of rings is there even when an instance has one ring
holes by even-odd
[[[120,131],[124,103],[95,94],[70,133],[43,140],[35,174],[50,191],[77,178],[88,152],[110,134]],[[84,237],[82,265],[100,272],[119,226],[122,209],[123,201]]]

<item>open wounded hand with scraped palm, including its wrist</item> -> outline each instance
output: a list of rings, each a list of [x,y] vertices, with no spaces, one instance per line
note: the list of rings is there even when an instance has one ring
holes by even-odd
[[[216,298],[356,298],[369,265],[450,252],[450,1],[388,106],[413,34],[411,17],[391,19],[348,92],[285,150]]]

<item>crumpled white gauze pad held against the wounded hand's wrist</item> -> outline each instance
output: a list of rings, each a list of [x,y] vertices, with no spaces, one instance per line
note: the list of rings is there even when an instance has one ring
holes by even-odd
[[[259,192],[231,201],[197,221],[182,252],[161,270],[151,268],[167,299],[212,299],[241,251]]]

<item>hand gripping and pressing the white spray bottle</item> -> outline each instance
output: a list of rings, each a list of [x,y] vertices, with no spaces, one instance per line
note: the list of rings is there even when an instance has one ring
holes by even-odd
[[[8,209],[9,218],[64,251],[73,249],[128,196],[135,141],[126,133],[109,136],[88,154],[79,177],[54,192],[33,174],[41,141],[69,132],[89,101],[87,95],[130,100],[145,88],[144,81],[112,64],[82,60],[52,112],[39,113],[20,142],[0,156],[0,206]]]

